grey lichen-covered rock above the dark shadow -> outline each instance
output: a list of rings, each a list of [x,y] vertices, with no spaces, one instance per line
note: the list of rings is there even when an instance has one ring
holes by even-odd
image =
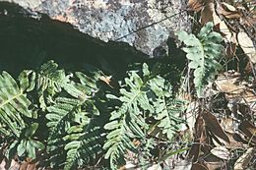
[[[70,23],[84,33],[108,41],[127,42],[153,56],[167,51],[171,31],[190,30],[185,0],[0,0],[19,4],[51,19]]]

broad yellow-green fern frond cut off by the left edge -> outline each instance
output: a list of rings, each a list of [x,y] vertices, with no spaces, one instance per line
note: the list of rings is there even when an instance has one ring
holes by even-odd
[[[0,121],[16,138],[26,126],[22,116],[32,118],[30,106],[31,101],[24,89],[7,72],[3,72],[0,76]]]

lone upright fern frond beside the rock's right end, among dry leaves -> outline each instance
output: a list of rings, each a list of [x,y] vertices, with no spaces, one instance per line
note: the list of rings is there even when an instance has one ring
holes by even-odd
[[[213,31],[213,27],[213,23],[206,24],[197,37],[185,31],[177,32],[178,38],[187,46],[183,50],[187,53],[188,67],[194,70],[194,85],[198,97],[203,97],[204,86],[212,81],[222,68],[218,60],[224,51],[224,46],[221,44],[223,37]]]

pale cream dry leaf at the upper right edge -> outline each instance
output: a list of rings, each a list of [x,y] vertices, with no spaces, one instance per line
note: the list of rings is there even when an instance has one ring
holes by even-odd
[[[243,52],[249,57],[250,61],[256,63],[256,49],[253,46],[253,41],[245,32],[238,32],[237,41],[242,48]]]

